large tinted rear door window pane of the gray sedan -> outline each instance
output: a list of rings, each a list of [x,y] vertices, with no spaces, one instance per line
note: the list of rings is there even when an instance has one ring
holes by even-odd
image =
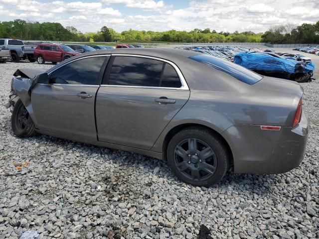
[[[163,62],[142,57],[116,56],[109,76],[109,85],[160,86]]]

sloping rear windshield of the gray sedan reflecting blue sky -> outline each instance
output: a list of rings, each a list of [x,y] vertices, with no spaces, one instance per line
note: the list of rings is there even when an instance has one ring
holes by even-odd
[[[260,81],[261,79],[263,79],[262,76],[256,74],[253,71],[250,71],[230,61],[226,61],[211,55],[196,55],[196,56],[189,57],[189,59],[198,61],[207,66],[210,66],[217,70],[225,72],[228,75],[231,75],[232,77],[236,78],[237,80],[240,80],[249,85],[253,85],[257,83],[258,81]]]

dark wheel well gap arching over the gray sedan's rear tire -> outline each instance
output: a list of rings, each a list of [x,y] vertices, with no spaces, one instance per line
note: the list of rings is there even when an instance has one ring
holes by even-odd
[[[225,147],[227,148],[227,152],[229,153],[229,158],[230,158],[229,163],[230,163],[230,166],[232,167],[233,163],[234,163],[233,153],[232,153],[231,148],[230,148],[228,142],[226,141],[226,139],[220,133],[218,133],[216,130],[214,130],[210,127],[207,127],[205,125],[202,125],[202,124],[197,124],[197,123],[184,123],[184,124],[177,125],[169,130],[169,132],[166,134],[166,136],[164,138],[163,145],[162,145],[163,159],[166,160],[167,146],[168,146],[168,143],[171,140],[171,138],[180,130],[182,130],[184,128],[188,128],[188,127],[193,127],[193,126],[205,128],[205,129],[211,131],[216,137],[218,137],[224,143]]]

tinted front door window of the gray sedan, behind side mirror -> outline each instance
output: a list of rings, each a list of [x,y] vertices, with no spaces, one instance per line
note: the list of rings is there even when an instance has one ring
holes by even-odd
[[[96,85],[103,57],[90,57],[71,62],[51,74],[52,84]]]

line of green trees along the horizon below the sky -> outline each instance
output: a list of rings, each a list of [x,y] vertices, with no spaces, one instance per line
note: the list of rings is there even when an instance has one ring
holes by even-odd
[[[0,38],[17,38],[21,40],[41,41],[79,41],[79,42],[112,42],[112,41],[163,41],[163,42],[268,42],[268,43],[318,43],[319,22],[295,26],[286,24],[274,26],[263,33],[216,32],[215,30],[198,29],[191,31],[139,31],[126,30],[121,33],[103,26],[98,32],[82,33],[73,26],[62,26],[57,22],[13,21],[0,22]]]

